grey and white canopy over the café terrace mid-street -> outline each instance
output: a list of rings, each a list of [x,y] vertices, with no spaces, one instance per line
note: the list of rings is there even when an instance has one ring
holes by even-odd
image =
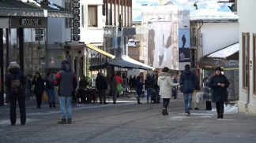
[[[145,70],[154,70],[155,68],[150,67],[147,64],[143,64],[139,61],[136,61],[129,56],[116,57],[111,61],[107,61],[108,64],[120,67],[120,68],[138,68]]]

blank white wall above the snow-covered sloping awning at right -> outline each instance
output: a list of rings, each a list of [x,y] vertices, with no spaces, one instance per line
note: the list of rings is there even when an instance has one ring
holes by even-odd
[[[202,56],[239,42],[238,23],[205,23],[201,27]]]

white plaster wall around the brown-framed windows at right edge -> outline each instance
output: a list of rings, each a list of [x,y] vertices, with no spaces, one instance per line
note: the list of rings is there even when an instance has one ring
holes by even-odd
[[[250,33],[250,61],[252,61],[252,35],[256,33],[256,6],[255,0],[238,0],[238,14],[239,14],[239,41],[240,41],[240,51],[242,49],[242,33]],[[256,96],[253,94],[253,71],[250,70],[250,91],[249,97],[247,96],[247,90],[243,89],[243,53],[239,53],[239,112],[247,112],[249,114],[256,115]],[[253,68],[252,68],[253,69]],[[249,101],[249,103],[248,103]]]

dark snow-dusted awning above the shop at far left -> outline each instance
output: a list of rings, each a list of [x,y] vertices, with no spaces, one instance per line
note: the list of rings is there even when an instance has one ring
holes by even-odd
[[[41,5],[37,2],[17,0],[0,1],[0,16],[33,16],[73,18],[73,12],[50,2]]]

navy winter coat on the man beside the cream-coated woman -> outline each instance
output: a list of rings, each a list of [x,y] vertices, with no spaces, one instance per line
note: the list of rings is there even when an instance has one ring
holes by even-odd
[[[183,94],[192,94],[197,89],[196,75],[190,72],[190,69],[185,69],[183,74],[180,75],[179,84],[183,86]]]

